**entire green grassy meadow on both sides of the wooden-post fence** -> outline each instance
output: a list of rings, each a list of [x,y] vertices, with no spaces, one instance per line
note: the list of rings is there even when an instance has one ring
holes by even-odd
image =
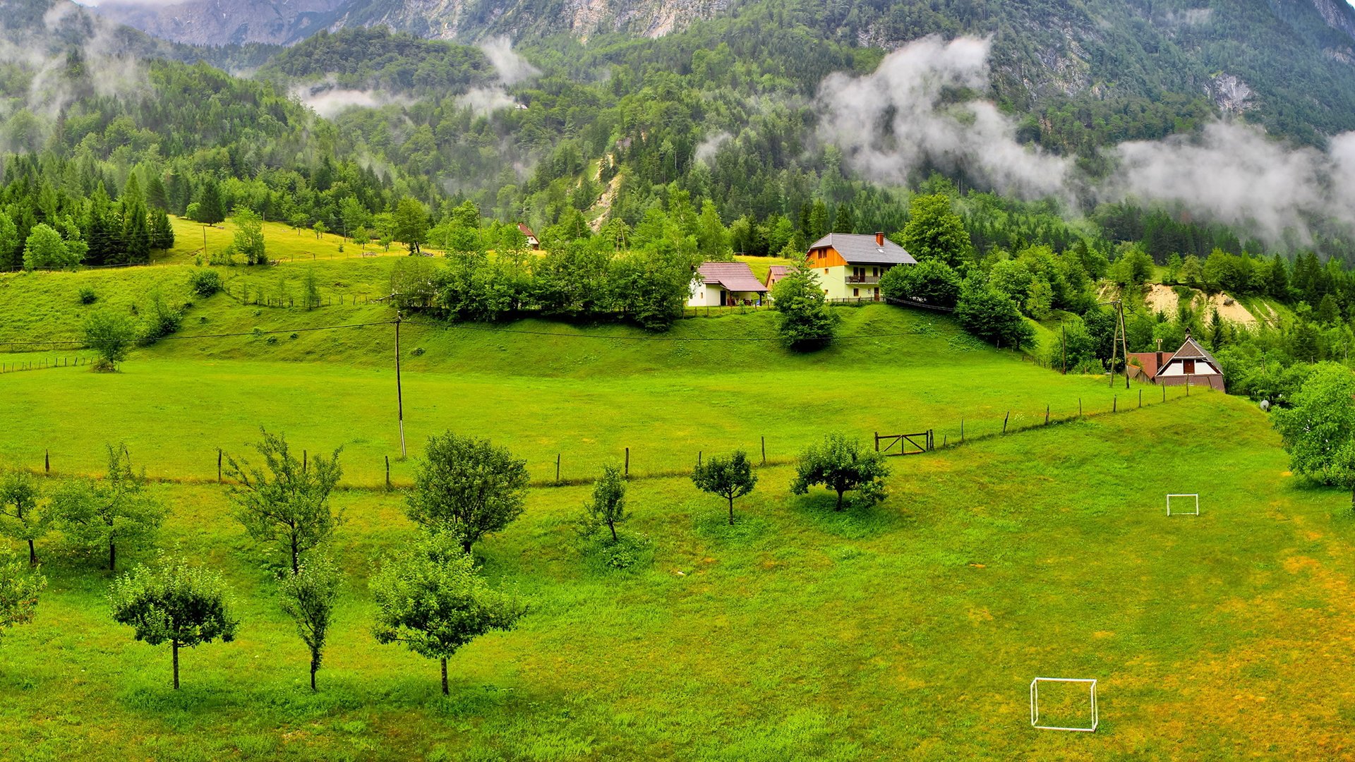
[[[159,546],[221,568],[243,618],[236,643],[182,654],[173,691],[168,651],[108,617],[99,559],[60,537],[39,544],[50,586],[38,617],[0,643],[0,758],[1355,754],[1355,519],[1346,495],[1287,473],[1266,414],[1218,393],[1164,401],[1156,386],[1061,376],[883,305],[843,308],[844,339],[814,355],[770,340],[766,312],[661,336],[405,323],[411,457],[432,433],[472,433],[512,447],[538,483],[524,515],[477,545],[486,576],[533,611],[465,647],[443,698],[436,662],[375,643],[366,588],[373,559],[412,532],[393,313],[362,298],[379,296],[393,259],[228,277],[267,290],[314,267],[348,301],[309,312],[195,300],[188,264],[0,277],[4,342],[73,340],[87,310],[130,310],[154,287],[194,302],[176,338],[121,373],[0,374],[0,464],[41,472],[50,453],[51,488],[126,441],[171,507]],[[76,298],[84,285],[93,306]],[[369,325],[313,329],[354,324]],[[5,346],[45,350],[5,362],[79,354]],[[259,426],[312,453],[343,446],[333,550],[347,582],[314,694],[275,583],[215,484],[217,449],[241,452]],[[825,431],[924,430],[946,446],[892,458],[879,506],[836,513],[828,492],[789,491],[789,461]],[[770,462],[729,526],[683,473],[698,453],[760,460],[763,438]],[[584,552],[575,519],[581,483],[627,447],[625,530],[641,563],[617,571]],[[576,484],[550,485],[557,456]],[[1198,492],[1201,515],[1167,517],[1168,492]],[[1099,679],[1098,732],[1031,728],[1035,677]],[[1076,690],[1042,698],[1045,721],[1087,720]]]

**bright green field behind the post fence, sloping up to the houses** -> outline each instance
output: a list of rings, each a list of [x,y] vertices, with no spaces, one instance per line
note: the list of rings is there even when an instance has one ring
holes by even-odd
[[[363,263],[366,264],[366,263]],[[157,477],[214,479],[217,447],[238,450],[259,426],[299,447],[344,447],[346,481],[379,484],[398,462],[394,328],[298,332],[294,325],[379,321],[379,306],[241,308],[218,294],[180,339],[136,354],[117,374],[58,367],[5,377],[0,462],[61,472],[102,468],[103,441],[122,439]],[[218,317],[220,315],[220,317]],[[976,344],[944,320],[885,305],[843,309],[844,339],[816,355],[774,340],[774,316],[686,320],[667,335],[625,327],[519,321],[491,328],[402,329],[405,435],[413,450],[455,430],[508,445],[538,480],[591,477],[630,447],[631,472],[680,472],[698,452],[743,447],[787,460],[824,431],[860,438],[935,430],[938,445],[1112,407],[1138,389],[1058,376]],[[190,316],[191,317],[191,316]],[[293,324],[291,321],[297,321]],[[248,328],[247,328],[248,325]],[[230,331],[262,336],[194,340]],[[274,340],[276,343],[268,343]],[[1180,396],[1176,389],[1172,397]],[[1145,404],[1161,401],[1148,388]],[[96,427],[89,422],[98,420]],[[963,423],[962,423],[963,422]]]

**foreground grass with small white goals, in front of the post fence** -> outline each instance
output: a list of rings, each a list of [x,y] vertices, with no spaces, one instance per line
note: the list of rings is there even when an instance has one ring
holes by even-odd
[[[772,468],[729,529],[690,481],[638,481],[652,563],[633,572],[576,548],[587,488],[539,489],[481,545],[535,610],[453,660],[450,700],[434,662],[370,636],[367,559],[408,532],[398,495],[339,496],[350,586],[310,694],[222,492],[161,485],[164,542],[226,571],[238,641],[184,652],[173,693],[168,654],[108,621],[96,561],[42,548],[50,594],[3,645],[0,757],[1337,758],[1350,519],[1275,445],[1251,405],[1196,396],[896,461],[870,511],[791,496]],[[1167,491],[1201,492],[1202,515],[1164,517]],[[1099,678],[1100,731],[1031,729],[1037,675]]]

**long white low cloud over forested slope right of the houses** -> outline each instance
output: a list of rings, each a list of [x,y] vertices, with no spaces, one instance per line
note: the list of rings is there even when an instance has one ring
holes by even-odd
[[[972,96],[989,89],[988,54],[985,39],[931,37],[890,53],[870,75],[829,75],[818,89],[820,137],[882,183],[904,184],[930,168],[962,171],[1022,198],[1188,209],[1270,243],[1309,240],[1317,217],[1355,228],[1355,133],[1320,151],[1218,121],[1199,134],[1111,148],[1117,169],[1092,186],[1069,159],[1022,145],[1011,117]]]

